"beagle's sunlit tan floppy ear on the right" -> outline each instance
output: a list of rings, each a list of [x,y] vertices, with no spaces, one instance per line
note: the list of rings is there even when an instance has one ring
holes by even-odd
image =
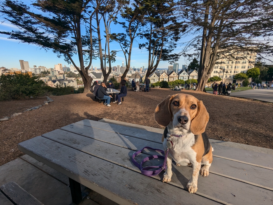
[[[207,123],[209,121],[209,113],[207,112],[206,107],[204,106],[203,102],[200,100],[198,101],[198,112],[195,115],[195,118],[191,121],[190,130],[193,134],[199,135],[205,132]]]

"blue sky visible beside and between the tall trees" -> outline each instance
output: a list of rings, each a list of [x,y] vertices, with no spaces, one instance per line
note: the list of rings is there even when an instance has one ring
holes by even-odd
[[[16,26],[10,24],[8,21],[4,21],[4,19],[0,18],[0,30],[1,31],[11,31],[16,30]],[[119,25],[113,25],[113,32],[123,32],[123,28]],[[47,68],[53,68],[54,64],[61,63],[63,65],[68,66],[68,64],[64,61],[64,58],[58,58],[55,53],[52,51],[46,51],[43,48],[37,47],[36,45],[22,43],[20,41],[14,39],[8,39],[8,36],[0,34],[0,67],[6,67],[8,69],[14,67],[20,69],[19,60],[24,60],[29,62],[29,66],[33,67],[33,65],[45,66]],[[110,50],[120,50],[119,44],[113,42],[110,44]],[[179,52],[181,48],[178,48],[175,52]],[[138,48],[138,44],[135,41],[133,45],[133,52],[131,56],[131,67],[148,67],[148,51],[140,50]],[[77,56],[74,58],[76,64],[78,64]],[[122,61],[125,61],[125,57],[122,52],[118,52],[116,56],[116,62],[112,64],[112,66],[122,65]],[[182,68],[182,64],[189,64],[187,59],[181,57],[178,61],[179,68]],[[92,61],[93,67],[100,67],[99,60]],[[166,61],[161,61],[158,68],[168,68],[170,64]]]

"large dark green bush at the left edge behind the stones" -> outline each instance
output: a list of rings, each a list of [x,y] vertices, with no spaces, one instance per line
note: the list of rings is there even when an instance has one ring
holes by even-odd
[[[16,73],[14,75],[0,76],[0,100],[16,100],[44,96],[45,82],[37,75]]]

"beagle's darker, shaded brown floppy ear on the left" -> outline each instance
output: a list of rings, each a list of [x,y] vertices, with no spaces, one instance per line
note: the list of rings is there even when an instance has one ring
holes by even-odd
[[[160,104],[157,105],[154,112],[154,118],[157,124],[166,127],[172,120],[172,113],[170,110],[170,103],[174,95],[169,95]]]

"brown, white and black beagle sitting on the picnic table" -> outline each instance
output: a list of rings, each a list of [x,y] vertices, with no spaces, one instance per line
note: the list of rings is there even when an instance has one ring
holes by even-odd
[[[171,181],[172,159],[178,166],[192,165],[187,189],[189,193],[195,193],[199,171],[203,177],[208,176],[212,163],[213,148],[205,133],[209,113],[203,102],[182,93],[169,96],[157,105],[155,121],[166,127],[162,136],[165,154],[169,148],[163,182]],[[201,165],[204,166],[201,168]]]

